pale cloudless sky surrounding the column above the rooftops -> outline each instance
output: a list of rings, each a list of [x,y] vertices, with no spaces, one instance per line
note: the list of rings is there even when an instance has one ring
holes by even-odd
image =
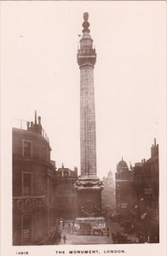
[[[89,12],[97,53],[95,121],[97,174],[150,158],[163,141],[165,2],[3,2],[3,121],[42,118],[59,168],[80,173],[78,34]],[[8,127],[9,128],[9,127]]]

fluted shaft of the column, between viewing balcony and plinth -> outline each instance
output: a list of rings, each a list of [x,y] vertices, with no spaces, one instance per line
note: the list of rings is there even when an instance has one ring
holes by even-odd
[[[80,67],[81,176],[96,176],[94,66]]]

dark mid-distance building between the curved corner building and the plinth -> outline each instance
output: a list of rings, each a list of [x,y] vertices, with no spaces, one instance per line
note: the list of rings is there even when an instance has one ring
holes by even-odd
[[[54,172],[53,179],[53,216],[56,219],[74,219],[78,213],[77,192],[74,188],[78,178],[78,168],[74,171],[62,167]]]

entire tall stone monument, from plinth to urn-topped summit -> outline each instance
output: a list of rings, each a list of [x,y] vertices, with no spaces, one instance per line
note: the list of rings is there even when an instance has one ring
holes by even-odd
[[[83,35],[78,49],[80,68],[80,157],[81,176],[75,184],[78,192],[78,234],[90,235],[104,226],[101,217],[103,183],[96,174],[94,67],[96,53],[89,34],[89,15],[83,14]],[[93,234],[92,234],[93,235]]]

